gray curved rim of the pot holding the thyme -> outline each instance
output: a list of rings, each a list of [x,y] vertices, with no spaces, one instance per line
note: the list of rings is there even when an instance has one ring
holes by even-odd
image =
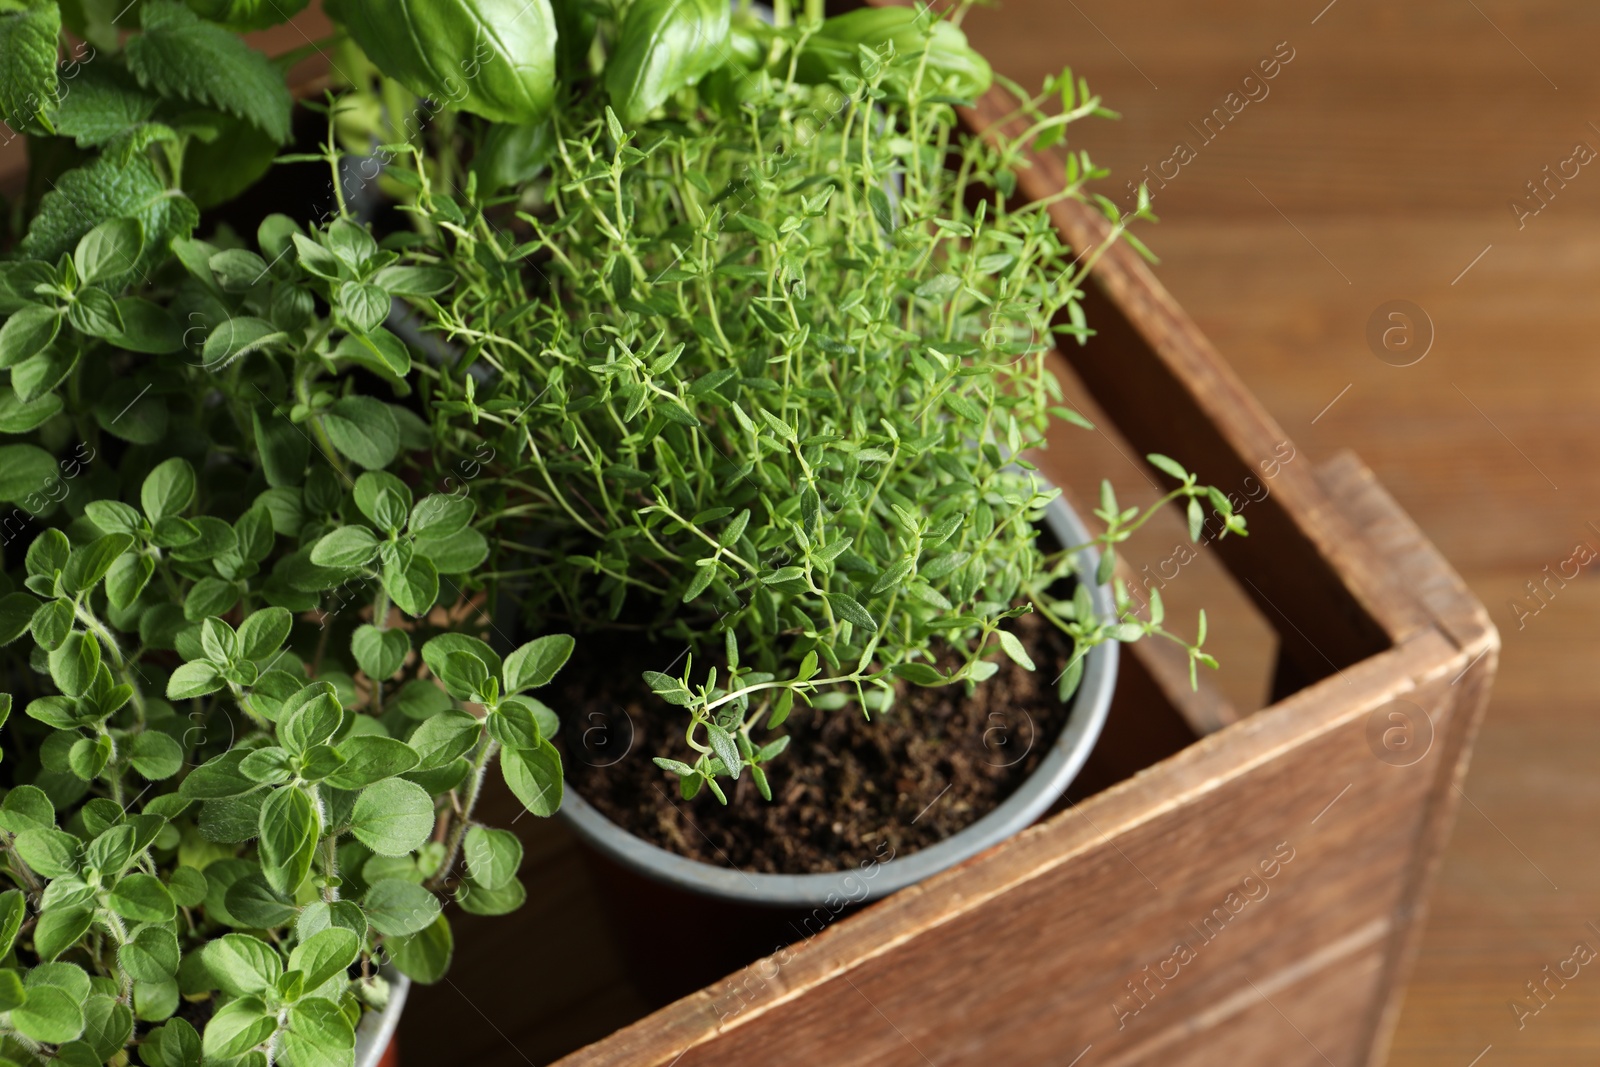
[[[1064,545],[1090,541],[1088,530],[1059,498],[1045,512],[1045,525]],[[1080,557],[1083,565],[1080,573],[1093,574],[1096,561],[1098,553],[1085,549]],[[1110,617],[1115,611],[1110,592],[1106,587],[1094,587],[1090,593],[1094,611],[1101,617]],[[1048,670],[1050,667],[1043,665],[1042,669]],[[1106,643],[1091,649],[1083,664],[1083,681],[1074,696],[1067,725],[1038,768],[1014,793],[982,819],[938,845],[930,845],[909,856],[870,864],[864,870],[850,867],[832,873],[773,875],[688,859],[634,837],[600,814],[574,789],[566,790],[560,817],[606,859],[653,881],[691,894],[739,904],[797,909],[821,907],[838,901],[874,901],[954,867],[990,845],[1006,840],[1056,803],[1099,739],[1106,713],[1110,709],[1115,680],[1117,645]]]

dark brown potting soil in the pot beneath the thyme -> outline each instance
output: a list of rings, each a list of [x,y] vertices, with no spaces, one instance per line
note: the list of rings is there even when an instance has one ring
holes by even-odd
[[[992,811],[1054,744],[1070,704],[1056,678],[1070,641],[1037,614],[1011,622],[1038,670],[1010,659],[971,697],[963,686],[904,686],[867,721],[854,704],[795,704],[794,741],[766,765],[773,803],[749,774],[722,781],[723,808],[702,789],[678,795],[651,757],[688,760],[688,717],[656,697],[643,670],[669,670],[682,646],[613,635],[579,641],[558,704],[568,785],[622,829],[666,849],[768,873],[840,870],[934,845]],[[587,656],[584,654],[587,649]],[[757,741],[770,739],[758,728]]]

